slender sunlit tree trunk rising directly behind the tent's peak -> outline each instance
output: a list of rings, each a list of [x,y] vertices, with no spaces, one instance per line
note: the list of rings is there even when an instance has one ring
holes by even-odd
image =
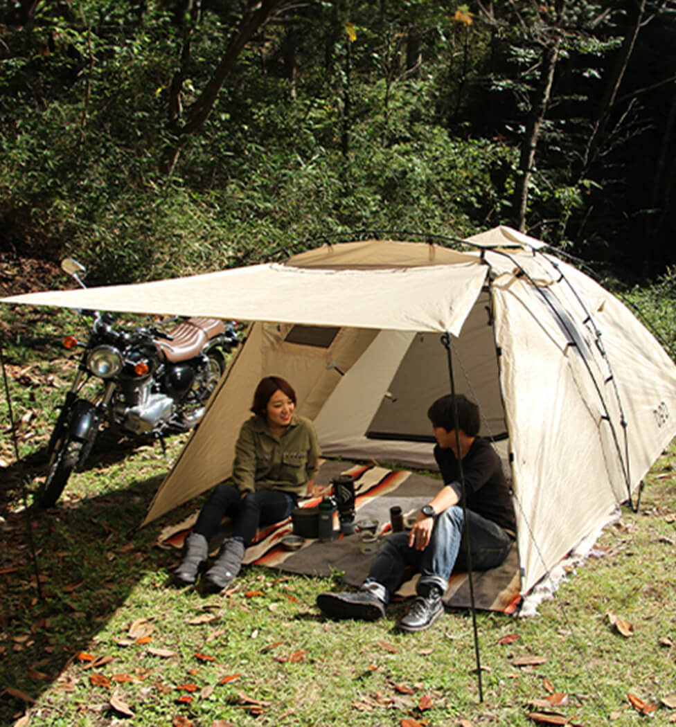
[[[526,231],[526,209],[528,207],[528,183],[531,180],[531,170],[535,160],[540,127],[547,114],[547,105],[552,92],[554,71],[558,60],[558,40],[544,49],[542,55],[542,73],[539,87],[528,114],[526,132],[521,144],[518,176],[514,190],[514,217],[516,226],[521,232]]]

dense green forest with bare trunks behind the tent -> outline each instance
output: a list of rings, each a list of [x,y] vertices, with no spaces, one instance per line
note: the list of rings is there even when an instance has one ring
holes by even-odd
[[[362,230],[676,288],[676,0],[5,0],[0,236],[89,282]]]

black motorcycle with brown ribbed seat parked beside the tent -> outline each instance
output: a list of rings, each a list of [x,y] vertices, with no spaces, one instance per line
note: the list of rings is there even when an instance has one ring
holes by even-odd
[[[61,267],[86,287],[83,265],[66,258]],[[57,502],[73,470],[84,468],[102,427],[151,436],[163,449],[166,434],[195,427],[225,371],[225,353],[239,342],[233,321],[187,318],[169,332],[153,325],[126,331],[113,327],[111,313],[79,313],[92,316],[92,329],[86,342],[64,339],[66,348],[84,350],[49,438],[38,507]]]

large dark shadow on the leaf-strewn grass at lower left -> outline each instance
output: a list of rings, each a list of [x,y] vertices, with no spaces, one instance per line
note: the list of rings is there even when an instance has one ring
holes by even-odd
[[[156,523],[136,530],[162,476],[0,523],[0,724],[52,686],[146,574],[164,575],[176,560],[153,547]]]

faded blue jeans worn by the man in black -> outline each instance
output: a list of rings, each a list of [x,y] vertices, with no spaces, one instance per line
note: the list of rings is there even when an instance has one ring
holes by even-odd
[[[512,538],[493,521],[467,510],[472,571],[487,571],[507,557]],[[454,569],[467,570],[467,542],[462,507],[449,507],[438,515],[430,543],[424,550],[409,547],[408,533],[390,535],[371,565],[363,587],[387,603],[401,583],[407,567],[420,574],[420,587],[448,587]]]

